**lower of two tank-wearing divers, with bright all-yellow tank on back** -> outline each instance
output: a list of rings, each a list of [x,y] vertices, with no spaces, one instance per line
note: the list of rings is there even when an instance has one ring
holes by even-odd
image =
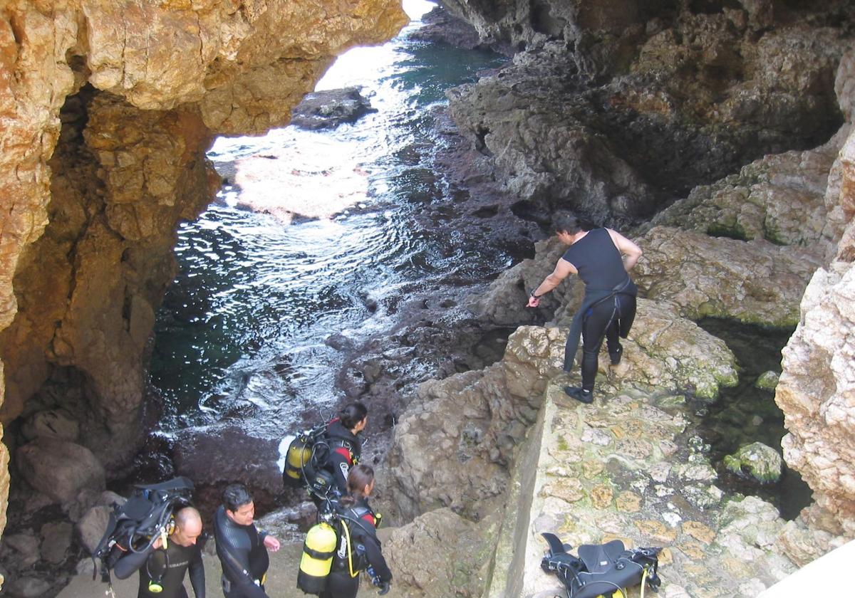
[[[359,572],[369,567],[380,595],[384,595],[392,585],[392,572],[380,552],[376,531],[380,518],[369,507],[369,495],[374,490],[374,469],[362,464],[351,467],[347,489],[349,494],[339,501],[339,518],[341,525],[347,526],[350,542],[347,542],[348,534],[342,530],[327,577],[327,589],[321,593],[321,598],[355,598],[359,591]]]

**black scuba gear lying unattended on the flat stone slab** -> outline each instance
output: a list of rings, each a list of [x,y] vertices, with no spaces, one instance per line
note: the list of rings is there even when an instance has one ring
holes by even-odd
[[[541,535],[549,544],[549,552],[540,561],[540,568],[557,575],[567,589],[567,598],[626,598],[626,588],[639,584],[644,596],[645,584],[656,592],[662,583],[657,575],[657,555],[662,548],[627,550],[623,542],[612,540],[601,545],[581,545],[577,558],[569,554],[572,547],[555,534]]]

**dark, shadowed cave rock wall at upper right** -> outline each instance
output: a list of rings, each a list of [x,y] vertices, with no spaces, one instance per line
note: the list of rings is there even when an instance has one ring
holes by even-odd
[[[449,3],[485,42],[525,51],[450,91],[450,112],[527,220],[574,209],[638,224],[763,155],[823,144],[843,122],[834,73],[852,2],[555,0],[540,3],[563,15],[549,34],[538,3],[500,3],[500,19],[476,4]]]

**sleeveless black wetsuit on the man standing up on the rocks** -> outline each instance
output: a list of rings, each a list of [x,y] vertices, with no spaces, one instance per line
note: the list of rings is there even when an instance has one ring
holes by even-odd
[[[573,365],[581,332],[582,388],[593,390],[604,337],[612,361],[620,359],[623,349],[618,337],[626,338],[633,325],[638,288],[604,228],[595,228],[570,245],[562,259],[573,264],[585,283],[585,297],[567,337],[564,370],[569,372]]]

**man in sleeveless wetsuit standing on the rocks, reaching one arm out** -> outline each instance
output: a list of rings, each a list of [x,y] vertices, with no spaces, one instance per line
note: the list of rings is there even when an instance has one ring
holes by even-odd
[[[564,371],[573,366],[579,336],[582,337],[582,386],[565,386],[564,392],[583,403],[593,402],[593,381],[597,376],[599,348],[605,337],[612,365],[621,362],[623,348],[618,337],[626,338],[635,318],[638,288],[628,272],[641,257],[638,245],[610,228],[585,228],[573,214],[557,214],[553,230],[569,247],[555,270],[528,297],[528,307],[536,308],[540,297],[570,274],[585,283],[582,305],[573,318],[564,349]]]

